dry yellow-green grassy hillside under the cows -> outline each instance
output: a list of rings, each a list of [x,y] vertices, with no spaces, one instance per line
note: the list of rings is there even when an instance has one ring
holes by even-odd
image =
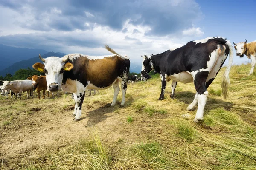
[[[256,169],[256,75],[250,65],[233,66],[227,100],[221,96],[223,68],[210,85],[204,121],[186,111],[193,84],[129,84],[124,108],[106,104],[113,88],[86,97],[82,119],[72,122],[68,95],[47,99],[0,97],[0,167],[23,170],[219,170]],[[25,94],[23,95],[25,98]],[[122,95],[118,96],[120,104]],[[197,107],[196,107],[197,109]],[[192,117],[185,119],[182,114]]]

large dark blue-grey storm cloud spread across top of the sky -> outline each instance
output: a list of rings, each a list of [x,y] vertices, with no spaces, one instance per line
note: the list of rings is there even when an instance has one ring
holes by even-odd
[[[42,31],[87,30],[94,23],[120,31],[125,21],[130,20],[134,25],[149,26],[149,35],[164,36],[190,27],[201,17],[194,0],[6,0],[0,1],[0,5],[22,14],[29,11],[32,24],[24,20],[20,26]]]

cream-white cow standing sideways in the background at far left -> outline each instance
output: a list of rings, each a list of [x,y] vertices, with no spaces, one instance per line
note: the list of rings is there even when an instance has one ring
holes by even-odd
[[[22,92],[27,92],[27,98],[29,98],[29,92],[33,92],[34,88],[32,85],[31,80],[14,80],[14,81],[4,81],[3,82],[3,89],[8,90],[11,89],[13,93],[15,93],[15,98],[17,99],[17,94],[19,94],[19,97],[21,99]],[[33,97],[33,93],[32,94]],[[8,95],[6,94],[6,98]]]

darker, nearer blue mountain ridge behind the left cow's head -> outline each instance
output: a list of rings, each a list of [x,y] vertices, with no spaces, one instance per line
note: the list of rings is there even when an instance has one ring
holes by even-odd
[[[55,53],[55,52],[48,52],[47,54],[41,55],[41,57],[43,58],[47,58],[47,57],[51,57],[51,56],[55,56],[55,57],[63,57],[64,53]],[[2,71],[0,71],[0,76],[5,76],[7,73],[10,74],[14,74],[16,71],[18,71],[19,69],[23,68],[32,68],[32,65],[35,64],[36,62],[41,62],[42,61],[39,59],[39,57],[33,57],[30,59],[26,59],[26,60],[22,60],[20,62],[15,62],[13,65],[9,66],[8,68],[3,69]]]

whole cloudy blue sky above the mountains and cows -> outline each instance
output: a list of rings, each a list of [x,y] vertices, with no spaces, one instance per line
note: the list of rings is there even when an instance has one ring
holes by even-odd
[[[140,62],[191,40],[256,40],[256,0],[0,0],[0,43]],[[234,63],[249,62],[234,56]]]

